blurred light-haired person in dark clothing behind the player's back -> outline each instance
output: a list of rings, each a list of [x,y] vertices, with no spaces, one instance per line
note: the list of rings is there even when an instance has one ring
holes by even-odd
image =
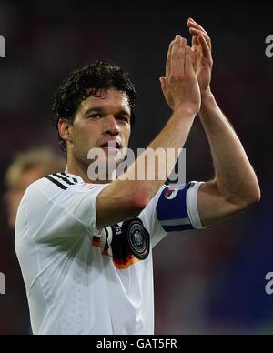
[[[6,295],[1,297],[0,334],[30,334],[29,313],[25,297],[25,285],[15,257],[15,217],[25,190],[35,180],[65,169],[65,159],[49,147],[32,148],[22,152],[12,161],[5,173],[5,213],[0,219],[1,247],[0,268],[6,277]],[[4,207],[4,205],[3,205]],[[4,209],[4,208],[3,208]]]

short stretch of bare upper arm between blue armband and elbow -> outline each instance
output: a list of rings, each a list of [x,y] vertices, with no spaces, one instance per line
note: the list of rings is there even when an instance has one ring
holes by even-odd
[[[215,180],[203,183],[199,187],[197,207],[204,227],[232,217],[243,209],[240,205],[232,203],[220,193]]]

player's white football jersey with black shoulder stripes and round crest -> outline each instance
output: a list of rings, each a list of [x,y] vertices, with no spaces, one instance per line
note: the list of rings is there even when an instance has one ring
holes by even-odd
[[[157,209],[160,197],[173,202],[177,195],[164,186],[138,217],[102,231],[96,197],[107,185],[59,173],[28,187],[18,209],[15,250],[34,334],[153,334],[152,248],[179,222],[202,228],[199,185],[187,185],[182,220],[163,219],[164,207]]]

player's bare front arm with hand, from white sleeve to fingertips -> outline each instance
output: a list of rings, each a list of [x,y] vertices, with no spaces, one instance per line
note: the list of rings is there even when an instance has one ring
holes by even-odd
[[[100,228],[139,215],[170,176],[177,162],[178,150],[185,145],[201,104],[194,55],[185,38],[177,35],[169,45],[166,77],[161,77],[160,82],[167,104],[174,113],[147,150],[128,168],[126,175],[120,176],[97,197],[97,224]],[[166,157],[159,159],[154,177],[145,175],[144,180],[136,177],[139,169],[149,165],[149,150],[157,152],[161,149],[166,156],[169,148],[175,149],[175,154],[171,160]],[[158,177],[162,170],[166,172],[165,178]]]

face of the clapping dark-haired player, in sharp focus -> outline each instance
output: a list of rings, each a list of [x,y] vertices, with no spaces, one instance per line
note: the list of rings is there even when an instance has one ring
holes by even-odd
[[[131,134],[131,109],[128,98],[121,91],[109,89],[103,96],[90,96],[83,101],[76,113],[68,141],[68,160],[76,158],[83,166],[90,165],[88,152],[92,148],[102,148],[106,154],[106,165],[110,154],[127,148]],[[116,149],[106,146],[116,142]],[[123,159],[123,158],[122,158]],[[118,165],[122,159],[116,159]]]

